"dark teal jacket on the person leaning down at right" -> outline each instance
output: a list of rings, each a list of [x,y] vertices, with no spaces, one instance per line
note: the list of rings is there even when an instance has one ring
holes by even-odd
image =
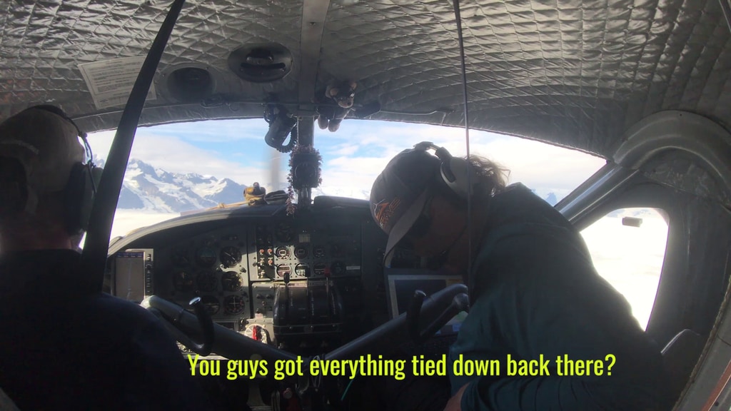
[[[489,207],[473,303],[450,348],[452,395],[469,384],[462,410],[656,410],[659,347],[596,274],[577,230],[520,184]],[[466,361],[485,360],[491,369],[465,375]]]

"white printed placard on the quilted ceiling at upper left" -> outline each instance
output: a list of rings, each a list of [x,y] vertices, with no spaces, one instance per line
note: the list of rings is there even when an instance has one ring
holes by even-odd
[[[124,106],[135,85],[145,56],[124,57],[79,64],[81,75],[94,98],[96,110]],[[150,85],[147,99],[156,99],[155,85]]]

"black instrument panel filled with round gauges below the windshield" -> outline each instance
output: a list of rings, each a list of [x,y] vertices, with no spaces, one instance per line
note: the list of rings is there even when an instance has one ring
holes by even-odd
[[[125,248],[115,258],[145,252],[145,295],[181,306],[200,297],[215,323],[307,355],[388,319],[386,236],[363,211],[170,229],[133,242],[139,249]],[[117,266],[123,265],[111,265]],[[129,282],[124,271],[113,276],[113,284]]]

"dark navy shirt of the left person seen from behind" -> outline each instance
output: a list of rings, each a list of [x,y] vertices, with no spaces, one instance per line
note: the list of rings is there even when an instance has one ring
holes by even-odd
[[[79,260],[70,250],[0,260],[7,395],[20,410],[207,409],[162,323],[135,303],[84,290]]]

